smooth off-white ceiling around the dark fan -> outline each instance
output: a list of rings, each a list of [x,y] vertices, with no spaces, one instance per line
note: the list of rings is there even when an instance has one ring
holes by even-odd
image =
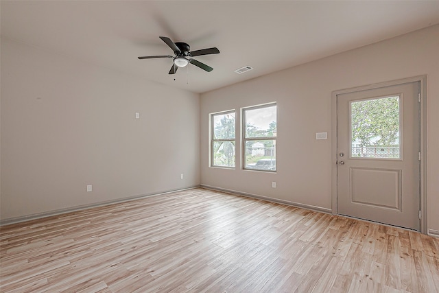
[[[439,1],[1,1],[1,35],[65,58],[195,93],[255,78],[439,23]],[[158,36],[195,59],[169,75]],[[237,74],[235,69],[254,67]],[[174,80],[174,78],[176,80]]]

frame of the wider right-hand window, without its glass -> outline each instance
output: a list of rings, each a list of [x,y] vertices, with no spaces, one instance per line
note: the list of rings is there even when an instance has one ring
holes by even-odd
[[[274,144],[274,152],[276,154],[275,158],[277,161],[277,152],[276,152],[276,136],[273,137],[246,137],[246,128],[247,128],[247,124],[246,124],[246,111],[247,110],[257,110],[257,109],[261,109],[261,108],[268,108],[268,107],[272,107],[272,106],[276,106],[276,133],[277,133],[277,117],[278,117],[278,113],[277,113],[277,102],[271,102],[268,104],[261,104],[261,105],[257,105],[257,106],[250,106],[250,107],[246,107],[246,108],[241,108],[241,141],[242,141],[242,145],[241,145],[241,154],[242,154],[242,159],[241,159],[241,163],[242,163],[242,169],[244,170],[250,170],[250,171],[259,171],[259,172],[270,172],[270,173],[276,173],[277,172],[277,167],[275,167],[274,170],[270,170],[270,169],[251,169],[251,168],[247,168],[246,167],[246,143],[248,141],[273,141]],[[276,164],[277,166],[277,164]]]

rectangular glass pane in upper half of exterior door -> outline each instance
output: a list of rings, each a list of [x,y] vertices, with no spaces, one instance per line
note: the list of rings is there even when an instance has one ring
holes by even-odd
[[[351,102],[351,156],[401,159],[400,98]]]

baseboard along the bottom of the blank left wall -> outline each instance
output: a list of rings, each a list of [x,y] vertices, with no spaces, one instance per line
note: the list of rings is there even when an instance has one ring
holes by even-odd
[[[119,202],[129,202],[131,200],[139,200],[141,198],[146,198],[146,197],[150,197],[150,196],[161,196],[163,194],[170,194],[171,192],[194,189],[197,187],[200,187],[200,185],[193,186],[193,187],[187,187],[187,188],[183,188],[183,189],[168,190],[168,191],[163,191],[160,193],[141,194],[139,196],[130,196],[128,198],[121,198],[121,199],[117,199],[117,200],[108,200],[106,202],[96,202],[94,204],[85,204],[85,205],[81,205],[81,206],[77,206],[77,207],[70,207],[67,209],[57,209],[55,211],[34,213],[32,215],[23,215],[23,216],[16,217],[16,218],[8,218],[8,219],[0,220],[0,226],[5,226],[5,225],[9,225],[9,224],[16,224],[16,223],[26,222],[26,221],[30,221],[30,220],[36,220],[36,219],[40,219],[40,218],[47,218],[47,217],[51,217],[52,215],[62,215],[63,213],[71,213],[72,211],[82,211],[84,209],[92,209],[94,207],[104,207],[104,206],[109,205],[109,204],[117,204]]]

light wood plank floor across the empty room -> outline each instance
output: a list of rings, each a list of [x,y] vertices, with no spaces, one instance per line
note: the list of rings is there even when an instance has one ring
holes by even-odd
[[[439,239],[209,189],[0,232],[0,292],[439,292]]]

